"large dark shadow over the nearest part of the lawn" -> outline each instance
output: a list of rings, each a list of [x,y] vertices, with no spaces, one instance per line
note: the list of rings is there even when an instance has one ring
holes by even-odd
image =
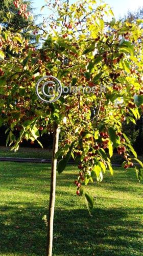
[[[21,203],[22,204],[22,203]],[[46,227],[42,216],[45,208],[11,202],[1,207],[0,255],[45,255]],[[55,211],[54,256],[70,255],[141,255],[140,223],[127,221],[128,214],[141,209]]]

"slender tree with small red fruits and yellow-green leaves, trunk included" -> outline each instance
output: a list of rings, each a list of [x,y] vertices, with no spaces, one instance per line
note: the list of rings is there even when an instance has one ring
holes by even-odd
[[[75,181],[79,196],[84,192],[82,182],[87,185],[94,179],[102,181],[106,169],[113,174],[109,157],[114,149],[124,155],[125,169],[133,166],[132,158],[143,167],[122,133],[124,121],[140,118],[143,98],[140,21],[116,22],[113,17],[106,22],[106,15],[113,15],[109,6],[99,6],[91,0],[71,5],[68,1],[54,1],[49,7],[54,14],[49,17],[47,28],[41,28],[44,44],[39,49],[26,40],[28,32],[23,36],[21,29],[8,29],[6,36],[1,30],[0,123],[9,125],[7,142],[14,150],[18,150],[22,139],[39,142],[40,135],[54,132],[46,252],[51,256],[57,158],[62,157],[57,166],[59,173],[70,156],[80,162]],[[29,28],[38,29],[30,22]],[[13,54],[7,59],[8,46]],[[81,85],[94,87],[94,92],[76,90],[63,94],[54,103],[43,103],[37,99],[35,84],[44,75],[78,89]],[[19,131],[18,138],[15,131]],[[136,172],[140,178],[140,170]],[[84,194],[90,212],[93,197]]]

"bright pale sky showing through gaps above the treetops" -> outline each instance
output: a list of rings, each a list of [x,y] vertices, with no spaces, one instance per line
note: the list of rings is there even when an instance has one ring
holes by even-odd
[[[35,13],[46,16],[46,8],[42,12],[40,11],[41,7],[45,5],[45,1],[33,0],[32,2],[33,2],[33,7],[36,8]],[[76,1],[72,1],[72,2],[76,2]],[[112,10],[116,18],[123,17],[128,10],[135,11],[138,7],[143,7],[142,0],[104,0],[104,2],[109,4],[112,7]],[[42,21],[41,18],[40,20]]]

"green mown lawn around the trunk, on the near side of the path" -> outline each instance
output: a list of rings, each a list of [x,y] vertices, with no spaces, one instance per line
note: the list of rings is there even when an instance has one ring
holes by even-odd
[[[142,184],[133,169],[115,169],[86,190],[95,197],[92,217],[76,196],[76,167],[57,175],[54,256],[142,255]],[[0,255],[44,256],[50,165],[1,162]]]

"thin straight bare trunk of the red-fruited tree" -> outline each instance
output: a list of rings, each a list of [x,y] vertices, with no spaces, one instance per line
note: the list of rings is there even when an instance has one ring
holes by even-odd
[[[49,216],[47,218],[46,256],[52,256],[52,247],[53,247],[53,223],[54,223],[54,210],[55,210],[56,169],[57,169],[57,159],[55,159],[55,154],[58,151],[58,141],[59,141],[59,127],[57,123],[54,123],[54,141],[53,141],[53,155],[52,155],[52,169],[51,169]]]

